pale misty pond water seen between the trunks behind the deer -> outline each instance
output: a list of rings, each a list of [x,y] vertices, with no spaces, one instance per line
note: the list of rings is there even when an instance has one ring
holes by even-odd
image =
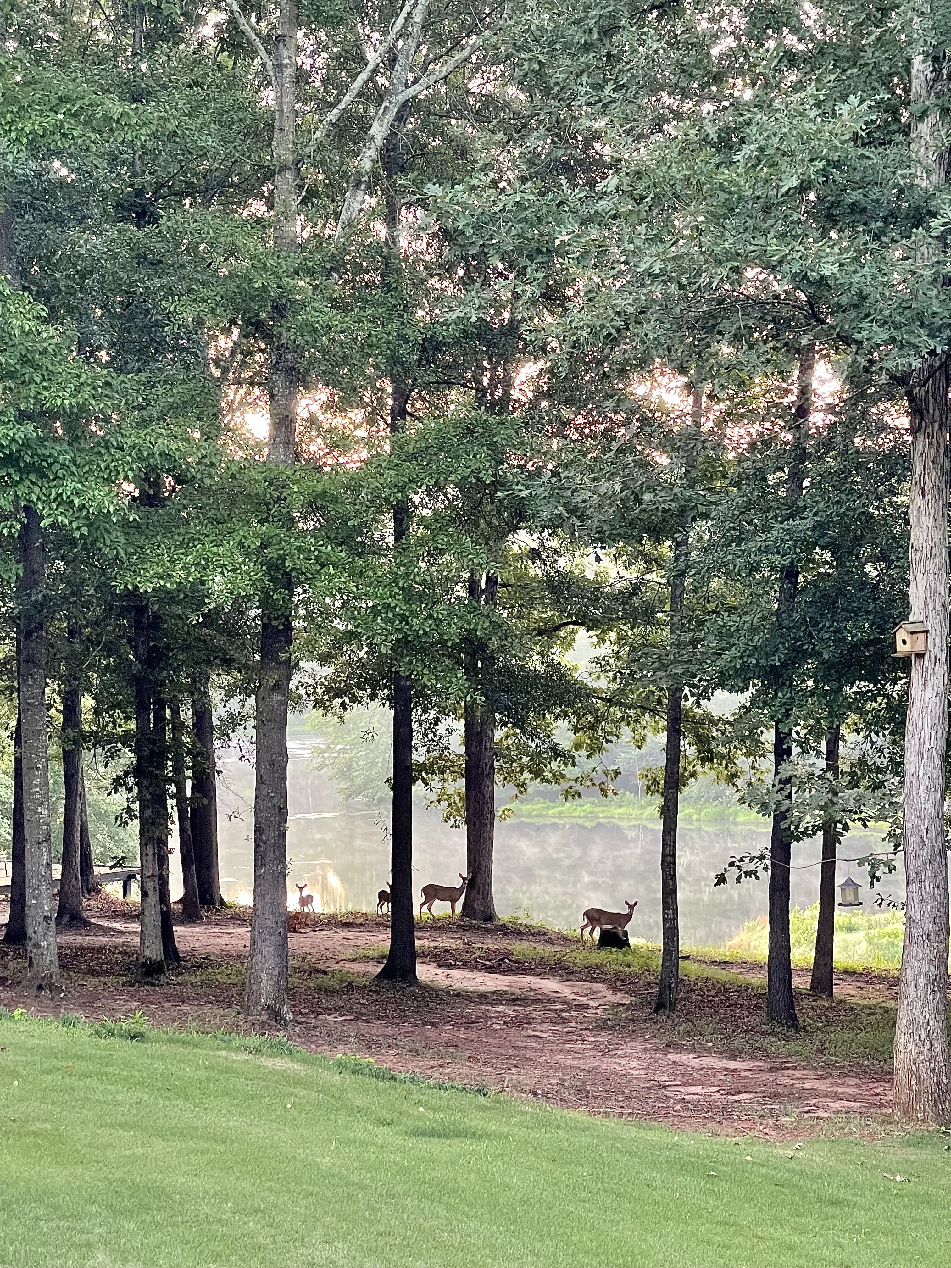
[[[313,768],[311,739],[292,739],[288,767],[288,902],[297,905],[294,883],[307,881],[321,910],[374,910],[377,891],[389,875],[385,812],[347,812],[332,782]],[[219,862],[222,893],[250,902],[252,888],[254,770],[237,753],[219,756]],[[690,823],[680,829],[678,874],[681,937],[686,945],[729,940],[739,927],[767,910],[767,881],[714,886],[714,874],[728,857],[768,844],[768,827],[730,822]],[[879,844],[879,837],[852,833],[839,853],[856,857]],[[527,913],[559,928],[578,927],[586,907],[618,910],[637,900],[631,936],[661,938],[661,825],[600,820],[587,824],[512,818],[496,829],[496,908],[500,915]],[[820,841],[794,847],[792,904],[818,900]],[[178,861],[178,853],[174,862]],[[429,881],[454,884],[465,870],[465,836],[443,823],[420,801],[413,823],[416,889]],[[855,865],[839,864],[837,880]],[[900,872],[886,877],[885,895],[904,896]],[[181,891],[180,880],[178,890]],[[867,888],[864,910],[869,904]],[[441,910],[441,907],[436,908]]]

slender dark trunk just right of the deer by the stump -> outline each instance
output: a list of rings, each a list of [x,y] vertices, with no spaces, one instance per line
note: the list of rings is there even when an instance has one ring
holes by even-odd
[[[704,418],[704,389],[694,387],[690,398],[690,427],[699,436]],[[691,441],[696,437],[691,436]],[[685,469],[696,465],[696,445],[685,455]],[[673,543],[671,574],[670,648],[676,662],[680,650],[683,600],[690,562],[690,515],[683,517]],[[680,814],[680,771],[683,752],[683,683],[675,678],[667,689],[667,734],[663,762],[663,803],[661,809],[661,980],[656,1013],[672,1013],[680,990],[680,905],[677,900],[677,818]]]

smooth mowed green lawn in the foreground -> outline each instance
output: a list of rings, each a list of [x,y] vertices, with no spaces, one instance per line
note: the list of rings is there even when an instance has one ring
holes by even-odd
[[[708,1139],[136,1022],[0,1047],[4,1268],[951,1263],[947,1135]]]

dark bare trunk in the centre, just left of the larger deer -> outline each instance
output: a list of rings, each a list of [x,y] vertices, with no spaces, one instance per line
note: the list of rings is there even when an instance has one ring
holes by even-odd
[[[413,919],[413,697],[412,680],[393,675],[393,819],[391,827],[389,955],[378,976],[416,985]]]

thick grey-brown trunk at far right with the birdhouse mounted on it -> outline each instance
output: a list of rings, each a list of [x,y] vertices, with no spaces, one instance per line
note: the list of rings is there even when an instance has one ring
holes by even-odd
[[[947,429],[946,354],[926,359],[908,391],[912,413],[909,615],[928,626],[928,649],[910,658],[905,721],[903,842],[905,940],[895,1026],[895,1115],[951,1121],[947,1044],[948,891],[945,843],[947,747]]]

